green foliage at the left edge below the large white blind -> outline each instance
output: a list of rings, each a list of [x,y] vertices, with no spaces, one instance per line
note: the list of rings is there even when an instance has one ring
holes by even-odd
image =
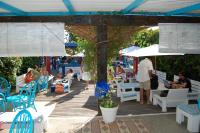
[[[6,78],[11,84],[15,84],[16,73],[22,65],[22,58],[19,57],[1,57],[0,75]]]

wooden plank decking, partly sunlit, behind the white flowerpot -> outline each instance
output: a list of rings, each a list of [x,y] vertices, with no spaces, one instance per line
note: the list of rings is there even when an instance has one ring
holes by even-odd
[[[84,90],[85,82],[74,80],[70,93],[41,93],[36,101],[56,103],[51,116],[95,116],[98,113],[97,101],[94,97],[94,84]],[[175,108],[168,112],[175,112]],[[141,105],[136,101],[123,102],[119,106],[118,115],[139,115],[161,113],[161,108],[153,105]]]

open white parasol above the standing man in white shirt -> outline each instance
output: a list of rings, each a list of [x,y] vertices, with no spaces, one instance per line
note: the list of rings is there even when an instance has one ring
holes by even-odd
[[[143,56],[163,56],[163,55],[184,55],[183,53],[160,53],[158,44],[141,48],[126,54],[127,56],[143,57]]]

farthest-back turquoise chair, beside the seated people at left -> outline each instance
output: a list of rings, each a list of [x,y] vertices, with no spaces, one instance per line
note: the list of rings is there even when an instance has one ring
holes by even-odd
[[[37,81],[37,88],[38,91],[43,91],[48,89],[48,82],[49,82],[49,76],[40,76],[40,78]]]

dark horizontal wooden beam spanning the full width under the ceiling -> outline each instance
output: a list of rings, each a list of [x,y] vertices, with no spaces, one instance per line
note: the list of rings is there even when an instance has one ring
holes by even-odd
[[[64,22],[67,25],[155,26],[158,23],[200,23],[200,17],[165,16],[58,16],[58,17],[0,17],[0,22]]]

